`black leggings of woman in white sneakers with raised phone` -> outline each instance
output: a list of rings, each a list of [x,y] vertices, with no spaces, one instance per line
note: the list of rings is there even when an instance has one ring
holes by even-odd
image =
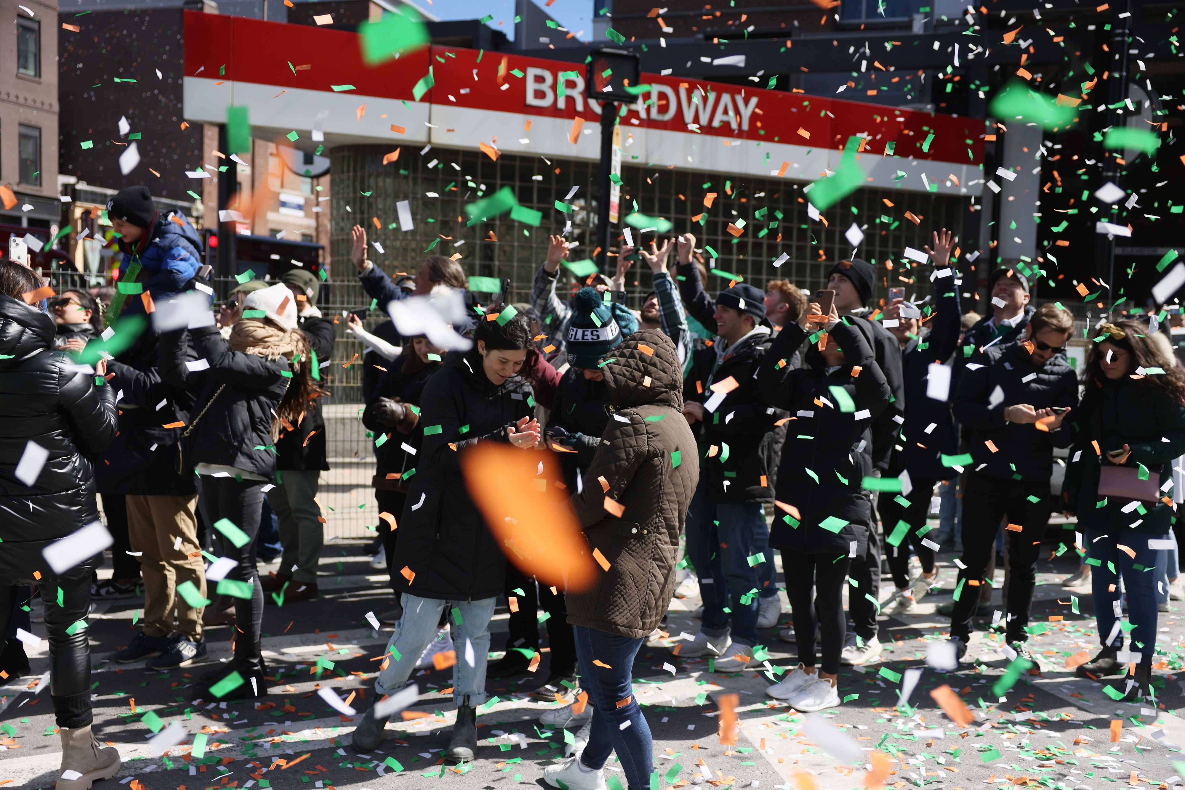
[[[844,619],[844,585],[851,560],[834,563],[828,554],[800,554],[782,550],[786,595],[790,599],[794,634],[799,640],[799,661],[815,666],[815,630],[822,632],[822,672],[839,672],[839,657],[847,638]]]

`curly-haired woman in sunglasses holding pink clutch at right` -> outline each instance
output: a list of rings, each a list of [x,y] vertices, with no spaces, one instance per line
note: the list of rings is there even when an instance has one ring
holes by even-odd
[[[1077,513],[1083,546],[1098,560],[1091,593],[1102,649],[1076,672],[1095,679],[1127,675],[1120,689],[1127,701],[1148,695],[1158,584],[1149,569],[1173,514],[1160,501],[1160,487],[1173,476],[1172,461],[1185,454],[1185,374],[1147,335],[1148,327],[1130,319],[1098,327],[1096,336],[1104,340],[1093,343],[1087,358],[1063,490],[1065,509]],[[1115,614],[1120,576],[1135,625],[1127,651]]]

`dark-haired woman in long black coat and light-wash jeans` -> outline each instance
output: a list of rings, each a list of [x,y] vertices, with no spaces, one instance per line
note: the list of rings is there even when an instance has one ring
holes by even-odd
[[[402,689],[424,648],[438,638],[441,614],[451,609],[457,718],[444,758],[453,762],[472,760],[478,747],[476,706],[486,701],[489,618],[506,577],[506,557],[469,496],[461,455],[481,442],[537,445],[532,368],[546,364],[529,353],[534,342],[524,314],[505,326],[479,321],[473,340],[470,351],[446,357],[424,387],[418,423],[423,444],[415,473],[403,473],[411,487],[391,565],[404,614],[387,644],[391,660],[374,683],[376,698]],[[376,718],[373,709],[363,714],[354,749],[376,749],[385,724],[386,717]]]

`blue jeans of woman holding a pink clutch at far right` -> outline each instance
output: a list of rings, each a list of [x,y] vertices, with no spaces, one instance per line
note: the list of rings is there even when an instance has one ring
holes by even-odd
[[[1125,535],[1122,545],[1134,551],[1135,557],[1128,557],[1127,552],[1117,548],[1119,541],[1106,532],[1091,529],[1083,538],[1090,547],[1090,558],[1100,563],[1090,571],[1100,643],[1107,647],[1107,637],[1120,618],[1116,609],[1120,606],[1121,595],[1119,577],[1122,576],[1123,592],[1127,593],[1127,619],[1135,625],[1132,629],[1130,649],[1144,655],[1142,663],[1151,664],[1157,646],[1155,566],[1159,552],[1148,548],[1148,539],[1162,539],[1164,535],[1149,535],[1142,532]],[[1114,592],[1109,591],[1110,585],[1115,585]],[[1122,630],[1110,644],[1116,648],[1123,646]]]

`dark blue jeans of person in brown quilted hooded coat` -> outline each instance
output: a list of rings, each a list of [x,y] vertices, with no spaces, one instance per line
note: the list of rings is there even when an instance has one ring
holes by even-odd
[[[581,763],[584,767],[602,769],[616,750],[628,789],[648,790],[654,771],[654,740],[630,682],[634,656],[642,640],[585,625],[574,625],[572,630],[581,664],[581,688],[588,692],[592,704],[592,726]]]

